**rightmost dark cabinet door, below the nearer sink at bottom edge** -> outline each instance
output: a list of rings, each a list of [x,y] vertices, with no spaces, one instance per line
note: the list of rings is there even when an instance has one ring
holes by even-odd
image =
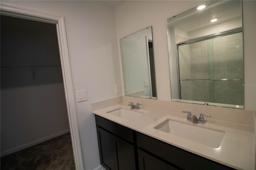
[[[175,170],[174,167],[138,149],[140,170]]]

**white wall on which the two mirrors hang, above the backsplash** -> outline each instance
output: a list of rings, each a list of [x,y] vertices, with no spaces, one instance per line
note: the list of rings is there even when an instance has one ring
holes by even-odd
[[[118,40],[152,26],[156,88],[160,100],[171,99],[166,19],[204,2],[206,1],[126,1],[115,8]],[[245,87],[245,109],[251,110],[256,110],[256,87],[253,86],[256,84],[255,4],[255,1],[243,2],[245,83],[252,84]]]

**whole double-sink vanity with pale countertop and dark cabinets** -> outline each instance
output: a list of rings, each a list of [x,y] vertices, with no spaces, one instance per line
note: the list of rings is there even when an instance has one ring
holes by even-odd
[[[253,128],[250,126],[211,119],[199,125],[186,121],[185,114],[151,108],[135,110],[125,103],[93,113],[100,162],[106,169],[250,170],[254,167]],[[172,125],[167,125],[170,121]],[[175,128],[192,135],[181,134]],[[210,136],[204,138],[195,128],[206,130],[210,136],[215,135],[211,130],[224,135],[214,136],[221,138],[216,141],[208,140]]]

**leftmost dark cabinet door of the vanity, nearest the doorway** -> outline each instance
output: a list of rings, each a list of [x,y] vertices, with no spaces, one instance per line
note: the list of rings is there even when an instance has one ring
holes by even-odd
[[[115,170],[112,134],[97,127],[97,135],[100,151],[100,164],[102,164],[106,170]]]

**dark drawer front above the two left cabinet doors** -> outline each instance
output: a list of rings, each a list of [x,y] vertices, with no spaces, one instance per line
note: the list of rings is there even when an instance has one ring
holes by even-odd
[[[98,115],[95,115],[95,120],[96,120],[96,125],[98,127],[104,128],[105,130],[108,130],[112,134],[115,134],[118,137],[133,143],[132,129],[119,125],[118,123],[109,121],[108,119],[105,119]]]

